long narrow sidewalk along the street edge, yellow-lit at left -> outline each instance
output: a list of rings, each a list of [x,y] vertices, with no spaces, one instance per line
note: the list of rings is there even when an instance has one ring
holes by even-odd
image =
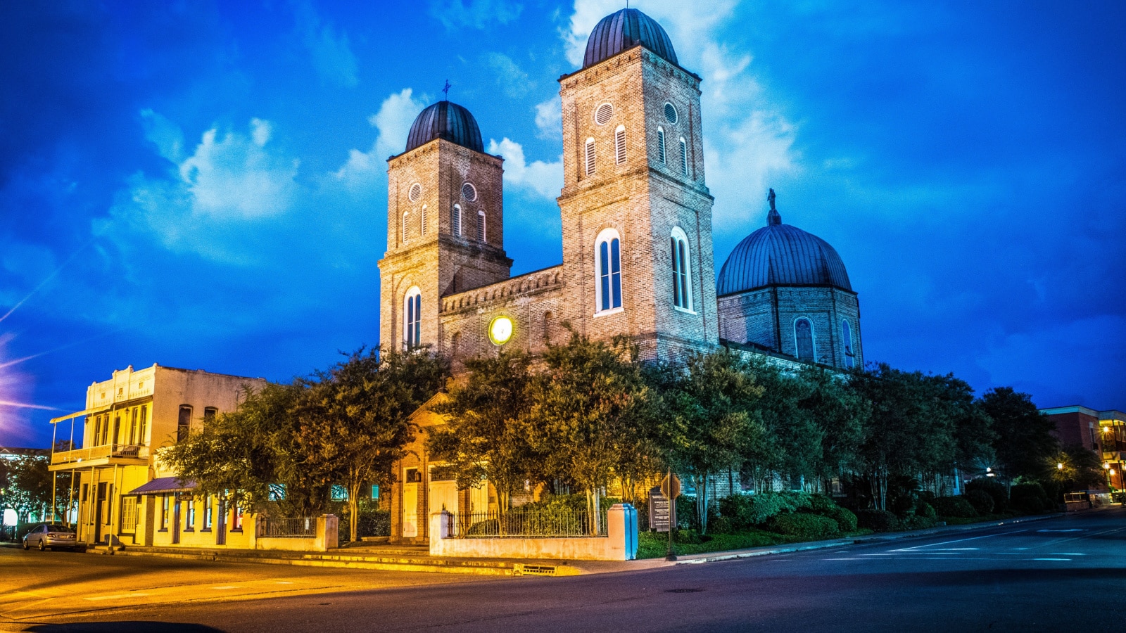
[[[895,541],[915,538],[933,534],[984,529],[1000,525],[1016,525],[1037,520],[1061,518],[1066,515],[1045,515],[1018,517],[1001,521],[983,521],[968,525],[951,525],[918,529],[912,532],[892,532],[834,538],[830,541],[808,541],[788,545],[771,545],[748,550],[729,550],[680,556],[677,561],[664,559],[642,559],[636,561],[558,561],[558,560],[512,560],[512,559],[462,559],[430,556],[426,547],[395,545],[357,545],[331,552],[284,552],[277,550],[229,550],[203,547],[142,547],[125,549],[92,547],[87,550],[93,554],[111,554],[118,556],[161,556],[170,559],[187,559],[216,561],[229,563],[258,563],[304,567],[332,567],[349,569],[373,569],[386,571],[426,571],[434,573],[471,573],[486,576],[578,576],[588,573],[614,573],[620,571],[640,571],[679,564],[698,564],[720,561],[766,556],[806,550],[840,547],[868,543],[874,541]]]

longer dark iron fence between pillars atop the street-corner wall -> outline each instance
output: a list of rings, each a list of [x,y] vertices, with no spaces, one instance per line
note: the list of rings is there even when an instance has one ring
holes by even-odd
[[[549,509],[449,515],[450,538],[606,536],[606,510]]]

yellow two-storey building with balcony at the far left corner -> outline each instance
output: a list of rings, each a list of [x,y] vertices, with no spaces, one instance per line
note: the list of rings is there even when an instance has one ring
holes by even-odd
[[[157,460],[206,418],[232,411],[262,378],[153,365],[115,371],[87,389],[86,408],[51,420],[51,470],[71,471],[56,494],[78,502],[78,537],[89,544],[252,547],[242,516],[215,498],[191,493]]]

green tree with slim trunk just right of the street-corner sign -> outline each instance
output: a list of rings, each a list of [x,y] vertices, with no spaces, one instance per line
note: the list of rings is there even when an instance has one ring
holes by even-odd
[[[729,349],[692,354],[682,369],[662,381],[671,426],[667,458],[692,478],[700,533],[707,533],[708,481],[723,470],[739,469],[765,436],[753,408],[763,389],[742,356]]]

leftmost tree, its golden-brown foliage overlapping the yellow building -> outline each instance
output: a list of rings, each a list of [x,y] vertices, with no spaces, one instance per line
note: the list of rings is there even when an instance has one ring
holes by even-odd
[[[205,418],[202,429],[162,448],[159,458],[180,480],[194,481],[199,494],[249,506],[267,500],[269,487],[280,483],[287,503],[310,512],[316,494],[303,481],[300,457],[289,451],[296,428],[291,412],[303,391],[301,384],[243,386],[234,411]]]

